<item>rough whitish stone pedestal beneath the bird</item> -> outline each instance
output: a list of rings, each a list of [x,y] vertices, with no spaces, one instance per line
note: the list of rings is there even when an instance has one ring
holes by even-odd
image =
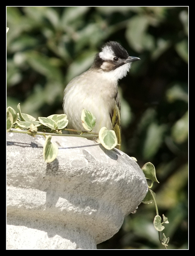
[[[58,156],[45,163],[42,136],[7,134],[7,249],[96,249],[147,193],[142,170],[120,150],[52,141]]]

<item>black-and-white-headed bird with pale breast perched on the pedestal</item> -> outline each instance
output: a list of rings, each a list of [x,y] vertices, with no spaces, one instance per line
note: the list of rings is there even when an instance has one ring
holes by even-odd
[[[92,132],[99,133],[102,127],[114,130],[118,140],[115,148],[121,149],[118,80],[127,75],[131,62],[138,60],[140,58],[129,56],[118,42],[104,44],[92,66],[65,87],[63,109],[69,120],[67,128],[83,131],[81,112],[85,108],[96,117]]]

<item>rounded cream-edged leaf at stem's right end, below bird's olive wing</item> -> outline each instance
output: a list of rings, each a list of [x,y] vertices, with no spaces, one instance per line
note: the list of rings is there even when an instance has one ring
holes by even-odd
[[[117,137],[114,131],[102,127],[99,131],[99,140],[106,149],[113,149],[117,145]]]

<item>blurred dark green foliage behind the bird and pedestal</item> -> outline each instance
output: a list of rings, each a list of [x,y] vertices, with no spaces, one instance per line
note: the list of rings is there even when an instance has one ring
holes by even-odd
[[[140,57],[119,82],[122,150],[154,164],[168,249],[187,249],[188,7],[7,7],[7,27],[7,106],[36,118],[63,113],[66,84],[105,42]],[[154,216],[141,204],[98,248],[163,249]]]

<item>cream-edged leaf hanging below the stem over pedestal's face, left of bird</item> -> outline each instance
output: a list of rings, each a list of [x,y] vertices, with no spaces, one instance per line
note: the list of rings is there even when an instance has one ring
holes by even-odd
[[[58,147],[56,144],[51,142],[52,136],[48,135],[45,139],[45,144],[43,146],[43,158],[46,163],[51,163],[58,154]]]

